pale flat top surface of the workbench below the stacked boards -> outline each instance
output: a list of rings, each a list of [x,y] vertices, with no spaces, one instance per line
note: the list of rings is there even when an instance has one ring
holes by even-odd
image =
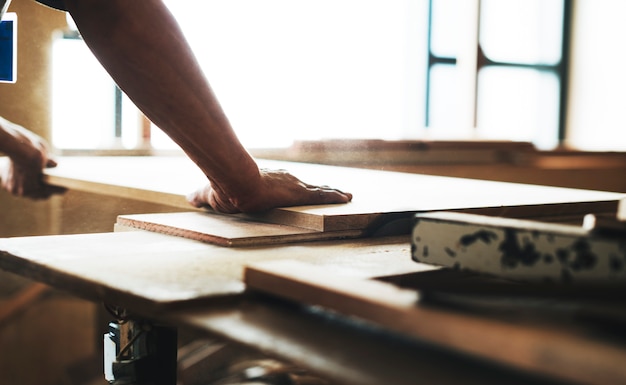
[[[87,299],[161,312],[240,294],[244,265],[302,259],[360,277],[431,270],[406,236],[278,246],[219,247],[147,231],[0,239],[0,268]]]

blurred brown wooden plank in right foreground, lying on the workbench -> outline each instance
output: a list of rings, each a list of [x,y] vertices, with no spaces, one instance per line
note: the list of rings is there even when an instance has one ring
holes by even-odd
[[[422,306],[416,292],[298,261],[250,264],[245,282],[250,288],[533,372],[577,383],[626,381],[626,350],[559,327]]]

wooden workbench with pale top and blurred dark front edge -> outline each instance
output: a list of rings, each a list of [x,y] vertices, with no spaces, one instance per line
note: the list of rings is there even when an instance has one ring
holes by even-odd
[[[551,383],[374,325],[247,293],[241,283],[249,262],[294,258],[364,279],[433,270],[409,261],[404,237],[234,250],[134,231],[5,239],[0,249],[2,269],[235,341],[336,383]]]

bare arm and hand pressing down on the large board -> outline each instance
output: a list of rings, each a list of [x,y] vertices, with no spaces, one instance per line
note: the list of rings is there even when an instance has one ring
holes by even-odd
[[[261,171],[241,145],[177,22],[160,0],[66,0],[87,45],[118,86],[210,181],[196,206],[223,212],[344,203],[352,196]]]

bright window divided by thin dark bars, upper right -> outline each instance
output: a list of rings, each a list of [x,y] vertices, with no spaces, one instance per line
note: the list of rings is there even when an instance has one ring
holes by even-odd
[[[425,124],[556,146],[567,81],[564,0],[429,3]]]

